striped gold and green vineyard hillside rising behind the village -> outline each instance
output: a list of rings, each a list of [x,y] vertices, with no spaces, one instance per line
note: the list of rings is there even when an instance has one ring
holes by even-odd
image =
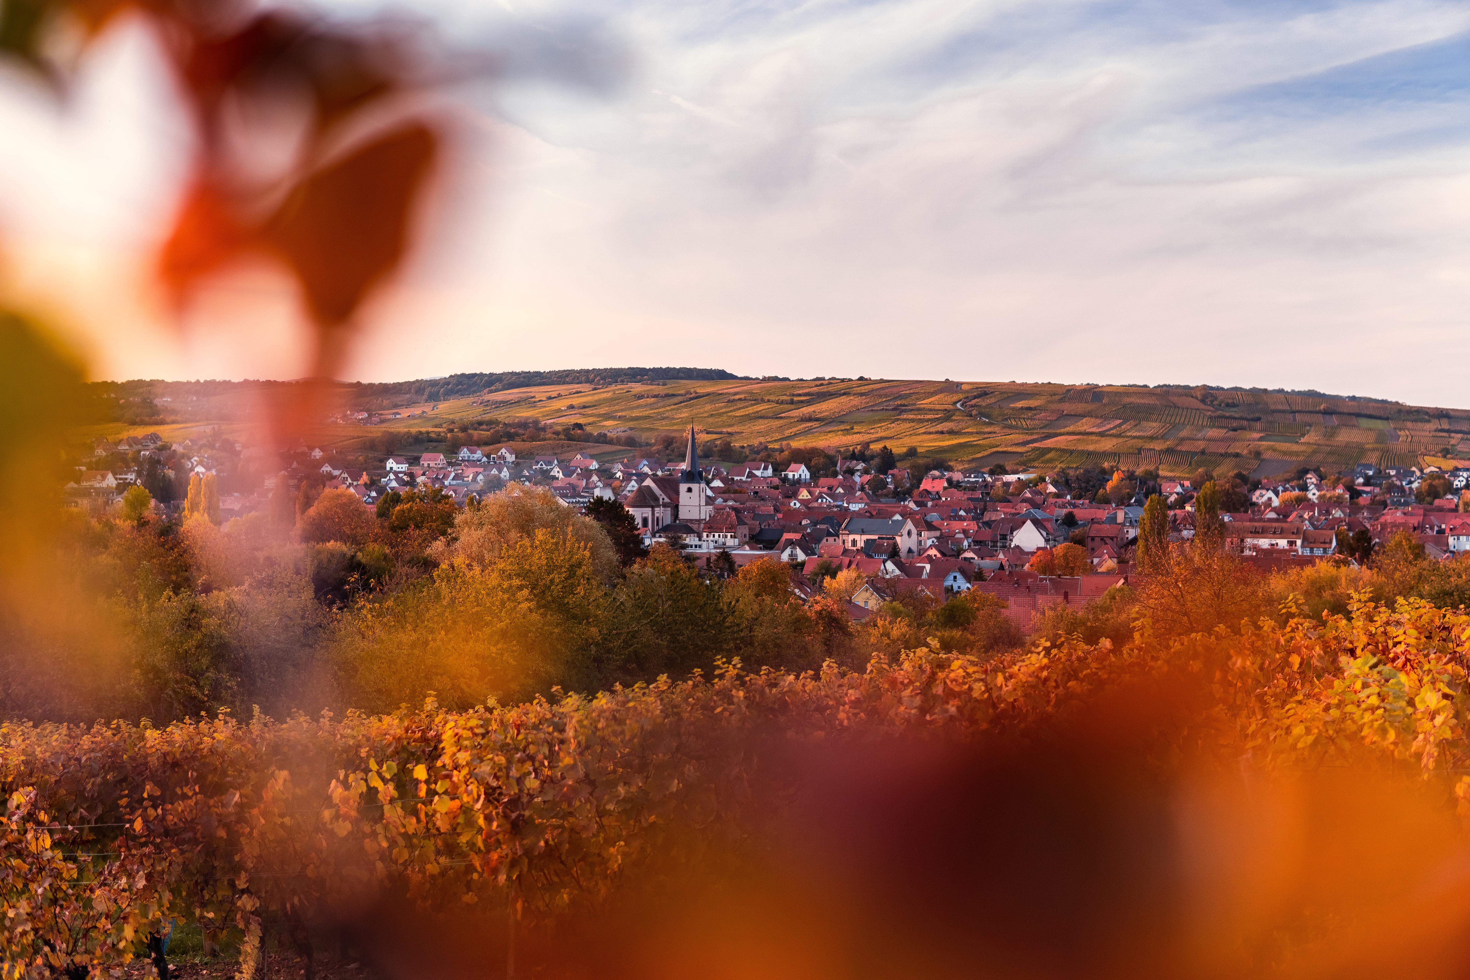
[[[344,388],[345,398],[370,386]],[[218,422],[209,408],[219,404]],[[196,422],[151,426],[165,438],[244,430],[240,394],[223,394],[193,408]],[[626,430],[644,441],[695,425],[701,438],[736,445],[819,445],[848,450],[863,442],[895,451],[914,447],[925,457],[954,463],[1004,461],[1022,469],[1101,463],[1158,467],[1164,475],[1247,470],[1261,475],[1299,466],[1341,469],[1360,461],[1386,464],[1452,460],[1466,455],[1470,411],[1420,408],[1401,403],[1335,395],[1299,395],[1210,388],[1142,388],[936,381],[660,381],[651,383],[560,383],[440,403],[395,404],[401,419],[381,426],[322,425],[309,441],[356,451],[384,438],[441,429],[450,423],[485,428],[491,419],[539,419],[587,432]],[[485,423],[478,426],[476,423]],[[150,426],[107,426],[119,435]],[[412,451],[413,442],[397,451]],[[526,447],[532,448],[532,447]],[[538,451],[575,451],[582,444],[541,444]],[[587,445],[601,458],[637,451]],[[1470,450],[1470,445],[1467,445]]]

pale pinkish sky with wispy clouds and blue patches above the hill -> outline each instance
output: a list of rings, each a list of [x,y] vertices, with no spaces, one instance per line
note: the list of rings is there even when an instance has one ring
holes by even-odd
[[[700,366],[1470,407],[1436,370],[1470,363],[1463,0],[415,10],[503,72],[445,94],[459,165],[347,378]],[[188,143],[137,25],[62,113],[0,82],[0,282],[94,376],[301,373],[276,272],[223,278],[184,331],[138,285]]]

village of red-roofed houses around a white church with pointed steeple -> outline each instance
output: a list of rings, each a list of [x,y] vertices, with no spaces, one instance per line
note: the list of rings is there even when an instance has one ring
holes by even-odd
[[[1005,599],[1007,617],[1022,629],[1050,605],[1082,607],[1129,582],[1150,495],[1169,507],[1170,539],[1189,539],[1205,476],[1114,472],[1085,497],[1073,494],[1075,475],[1010,473],[1004,466],[878,472],[876,460],[838,455],[826,467],[836,475],[816,476],[803,463],[701,460],[692,426],[682,458],[670,460],[637,451],[613,461],[585,453],[523,457],[510,445],[463,445],[353,469],[331,448],[303,444],[282,455],[228,438],[169,445],[157,433],[98,439],[93,454],[66,485],[74,504],[104,507],[141,483],[156,507],[178,510],[182,494],[171,491],[191,475],[218,478],[222,522],[265,508],[281,480],[293,492],[304,483],[348,489],[369,510],[394,491],[431,492],[465,507],[507,488],[544,486],[579,511],[594,498],[620,502],[645,547],[667,544],[711,573],[778,557],[803,591],[857,570],[864,585],[851,595],[850,611],[858,620],[906,594],[942,601],[979,589]],[[276,460],[288,460],[285,469],[259,472]],[[232,489],[251,482],[253,489]],[[1413,535],[1433,558],[1470,551],[1461,495],[1470,466],[1380,470],[1363,463],[1291,479],[1236,473],[1222,483],[1226,548],[1261,572],[1332,557],[1361,561],[1395,532]]]

